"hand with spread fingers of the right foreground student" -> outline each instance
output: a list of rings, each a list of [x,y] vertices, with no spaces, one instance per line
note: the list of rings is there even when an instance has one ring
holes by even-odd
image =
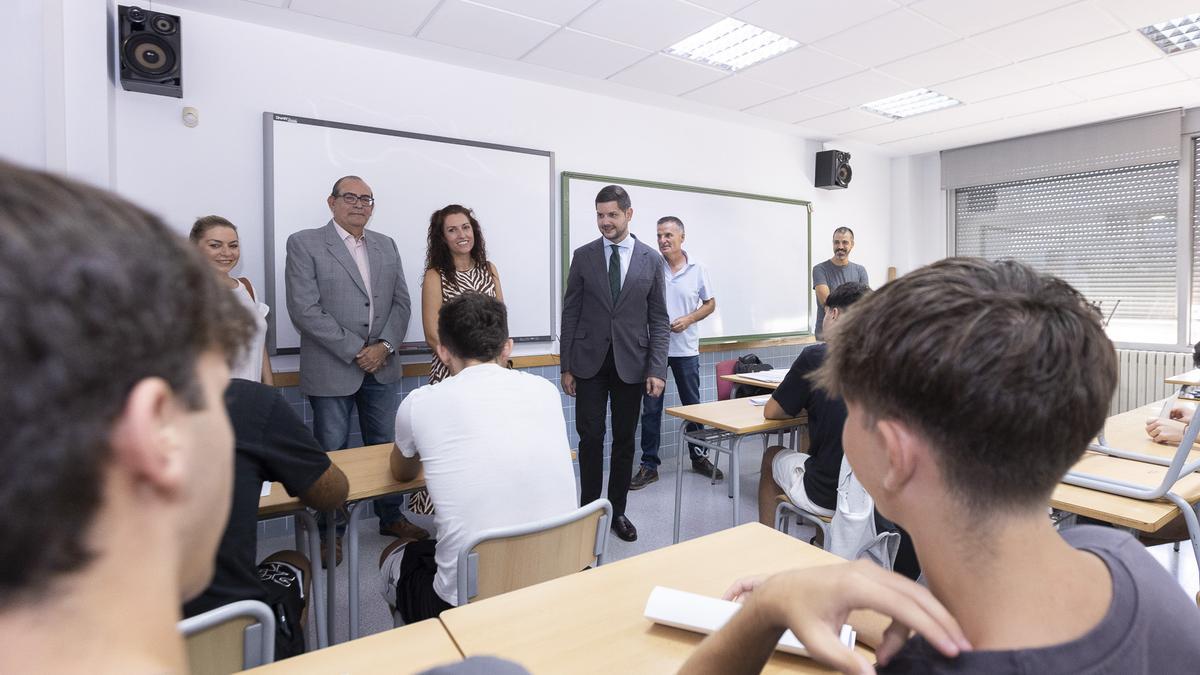
[[[863,657],[839,640],[846,616],[856,609],[892,617],[875,647],[880,665],[900,651],[910,629],[948,657],[971,650],[958,621],[928,589],[864,560],[775,574],[757,586],[743,611],[763,611],[770,626],[791,628],[812,658],[826,665],[871,673]]]

